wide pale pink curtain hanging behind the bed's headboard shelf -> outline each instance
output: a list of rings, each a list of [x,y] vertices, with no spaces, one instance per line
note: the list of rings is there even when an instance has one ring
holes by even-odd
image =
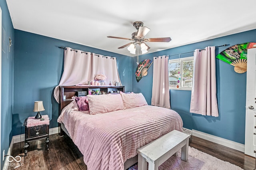
[[[64,70],[60,83],[54,89],[54,97],[59,103],[59,86],[87,85],[96,74],[106,75],[106,85],[116,81],[122,85],[116,65],[116,57],[108,57],[66,47],[64,49]]]

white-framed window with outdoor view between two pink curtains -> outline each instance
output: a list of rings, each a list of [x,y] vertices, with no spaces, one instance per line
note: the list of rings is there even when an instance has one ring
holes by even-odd
[[[169,60],[169,89],[191,90],[194,57]]]

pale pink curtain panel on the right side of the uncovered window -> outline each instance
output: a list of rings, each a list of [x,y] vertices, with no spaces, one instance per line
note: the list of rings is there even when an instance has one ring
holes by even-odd
[[[215,47],[194,52],[194,72],[190,112],[218,117],[216,98]]]

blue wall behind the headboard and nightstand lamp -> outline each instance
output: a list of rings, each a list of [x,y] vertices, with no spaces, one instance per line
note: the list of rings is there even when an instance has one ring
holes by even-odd
[[[53,98],[63,71],[64,50],[71,47],[117,58],[118,72],[126,91],[132,90],[132,58],[108,51],[15,30],[13,135],[20,134],[24,120],[36,115],[34,101],[42,100],[50,128],[58,127],[58,103]],[[24,133],[24,128],[22,128]]]

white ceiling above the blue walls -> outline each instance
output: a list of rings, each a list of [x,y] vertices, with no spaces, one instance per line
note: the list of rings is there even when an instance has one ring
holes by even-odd
[[[148,42],[148,53],[256,29],[256,0],[6,2],[15,29],[128,56],[135,55],[118,47],[129,40],[107,36],[131,38],[135,21],[151,29],[146,38],[172,38],[168,43]]]

